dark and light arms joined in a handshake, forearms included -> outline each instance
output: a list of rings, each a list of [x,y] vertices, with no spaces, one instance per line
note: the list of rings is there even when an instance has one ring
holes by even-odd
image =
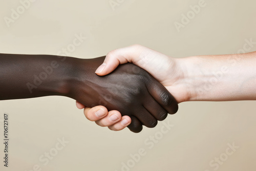
[[[173,58],[140,45],[93,59],[0,54],[0,100],[67,96],[98,125],[138,133],[180,102],[256,100],[255,55]]]

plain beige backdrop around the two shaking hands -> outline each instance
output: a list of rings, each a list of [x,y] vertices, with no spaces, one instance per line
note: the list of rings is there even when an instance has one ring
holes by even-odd
[[[36,1],[7,26],[4,17],[20,6],[18,0],[0,3],[1,53],[57,54],[72,44],[75,34],[87,37],[71,56],[92,58],[133,44],[173,57],[237,53],[245,39],[256,41],[255,1],[210,1],[180,32],[174,22],[199,0]],[[254,46],[250,51],[255,51]],[[174,126],[154,143],[144,141],[160,135],[163,122],[139,134],[128,129],[109,131],[90,122],[75,101],[65,97],[42,97],[0,102],[0,121],[10,115],[10,160],[1,170],[215,170],[209,162],[225,153],[228,143],[239,146],[216,170],[254,170],[256,151],[255,101],[185,102],[176,115],[168,116]],[[1,142],[3,123],[0,125]],[[64,137],[69,143],[50,160],[39,161]],[[130,154],[144,148],[146,155],[129,169]],[[225,155],[224,155],[225,156]],[[133,163],[132,163],[133,164]],[[37,170],[37,169],[34,169]]]

